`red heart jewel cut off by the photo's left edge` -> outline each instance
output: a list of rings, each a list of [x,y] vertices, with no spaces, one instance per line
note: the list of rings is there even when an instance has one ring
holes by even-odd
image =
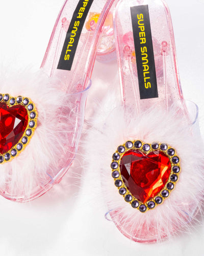
[[[22,105],[9,106],[0,102],[0,153],[18,143],[28,125],[28,113]]]

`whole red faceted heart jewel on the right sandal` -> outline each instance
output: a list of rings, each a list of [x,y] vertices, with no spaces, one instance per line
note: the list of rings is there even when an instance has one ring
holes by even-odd
[[[130,193],[145,203],[165,186],[171,172],[169,158],[161,151],[144,154],[127,151],[120,160],[120,173]]]

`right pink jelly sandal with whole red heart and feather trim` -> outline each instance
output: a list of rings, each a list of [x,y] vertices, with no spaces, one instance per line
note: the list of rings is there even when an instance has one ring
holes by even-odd
[[[107,118],[104,113],[104,124],[93,124],[88,141],[99,141],[93,145],[99,153],[95,159],[101,166],[106,217],[127,238],[151,243],[198,221],[204,175],[198,108],[183,99],[166,4],[115,4],[123,106],[115,108],[115,95],[109,95],[110,104],[103,103]]]

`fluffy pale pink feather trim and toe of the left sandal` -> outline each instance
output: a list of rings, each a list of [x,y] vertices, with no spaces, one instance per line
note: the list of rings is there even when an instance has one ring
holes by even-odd
[[[0,193],[28,201],[44,194],[65,174],[81,132],[79,126],[74,134],[75,127],[83,115],[76,111],[76,98],[61,90],[63,81],[48,78],[42,70],[1,72],[1,93],[29,97],[38,111],[38,125],[28,146],[0,165]]]

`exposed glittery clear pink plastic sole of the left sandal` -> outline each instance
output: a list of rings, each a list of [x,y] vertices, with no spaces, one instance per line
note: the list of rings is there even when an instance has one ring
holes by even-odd
[[[64,152],[56,156],[58,167],[49,166],[45,170],[43,178],[35,177],[30,193],[25,194],[24,190],[14,194],[9,181],[0,188],[0,194],[5,198],[18,202],[26,202],[42,196],[47,190],[59,183],[70,167],[77,152],[79,139],[84,122],[84,110],[88,89],[91,86],[90,76],[96,56],[97,42],[101,35],[101,27],[109,12],[113,0],[94,0],[86,17],[82,34],[79,39],[77,51],[75,52],[71,71],[57,69],[66,32],[69,27],[73,12],[78,1],[65,1],[57,17],[49,44],[42,61],[41,69],[49,76],[58,78],[58,88],[67,95],[67,104],[59,110],[57,118],[60,120],[66,116],[68,123],[65,127],[70,131],[67,138],[64,138]],[[97,24],[92,29],[86,29],[91,13],[100,13]],[[57,79],[56,79],[57,80]],[[63,133],[63,131],[62,131]],[[60,136],[60,134],[56,134]],[[37,163],[36,163],[37,164]]]

